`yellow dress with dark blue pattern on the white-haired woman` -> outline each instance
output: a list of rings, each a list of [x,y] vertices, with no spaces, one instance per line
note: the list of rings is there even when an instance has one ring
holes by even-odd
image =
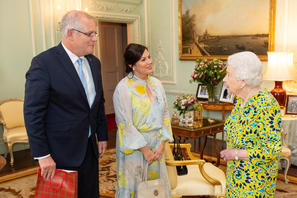
[[[282,152],[280,107],[265,89],[249,99],[239,118],[241,102],[237,97],[224,132],[227,149],[246,149],[250,161],[227,162],[226,198],[274,197]]]

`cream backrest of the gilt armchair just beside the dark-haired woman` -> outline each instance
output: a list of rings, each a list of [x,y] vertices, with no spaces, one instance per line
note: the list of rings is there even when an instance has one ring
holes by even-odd
[[[164,154],[165,154],[165,158],[169,160],[174,160],[172,155],[172,150],[168,143],[165,143]],[[166,169],[167,169],[167,175],[168,175],[171,189],[174,189],[177,186],[176,166],[166,166]]]

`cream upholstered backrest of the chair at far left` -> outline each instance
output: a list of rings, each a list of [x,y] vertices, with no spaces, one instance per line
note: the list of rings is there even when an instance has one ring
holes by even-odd
[[[0,106],[2,119],[6,128],[24,127],[24,101],[8,101]]]

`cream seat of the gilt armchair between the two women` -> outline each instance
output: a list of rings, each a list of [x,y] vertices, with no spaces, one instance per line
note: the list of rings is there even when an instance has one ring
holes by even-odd
[[[223,195],[226,193],[226,175],[211,163],[204,164],[205,172],[221,182],[213,186],[204,179],[198,165],[187,165],[188,174],[177,176],[177,187],[171,190],[172,196]],[[170,183],[171,184],[171,183]]]

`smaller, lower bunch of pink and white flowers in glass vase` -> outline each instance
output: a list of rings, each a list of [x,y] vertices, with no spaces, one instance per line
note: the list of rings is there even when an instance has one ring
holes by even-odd
[[[200,104],[197,98],[192,96],[192,94],[188,95],[185,93],[176,97],[177,99],[173,103],[173,108],[179,110],[179,115],[185,114],[192,110],[203,110],[202,104]]]

